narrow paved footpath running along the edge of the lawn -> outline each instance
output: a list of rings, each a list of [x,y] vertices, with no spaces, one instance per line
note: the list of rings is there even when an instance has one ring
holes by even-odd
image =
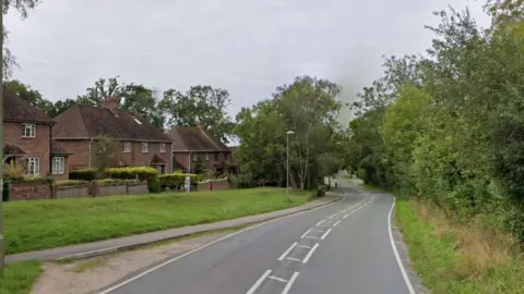
[[[271,219],[285,217],[285,216],[294,215],[300,211],[321,207],[321,206],[331,204],[333,201],[341,200],[342,198],[343,197],[341,196],[341,194],[330,193],[327,196],[325,196],[322,199],[313,200],[302,206],[288,208],[284,210],[277,210],[273,212],[254,215],[254,216],[243,217],[239,219],[233,219],[233,220],[226,220],[226,221],[219,221],[219,222],[213,222],[213,223],[190,225],[190,226],[170,229],[165,231],[131,235],[126,237],[110,238],[110,240],[105,240],[99,242],[70,245],[70,246],[57,247],[57,248],[44,249],[44,250],[37,250],[37,252],[13,254],[13,255],[8,255],[5,257],[5,261],[16,262],[16,261],[23,261],[23,260],[33,260],[33,259],[49,261],[49,260],[60,260],[60,259],[69,259],[69,258],[74,258],[74,259],[90,258],[94,256],[128,250],[128,249],[132,249],[143,245],[172,240],[172,238],[187,236],[191,234],[247,225],[247,224],[257,223],[261,221],[267,221]]]

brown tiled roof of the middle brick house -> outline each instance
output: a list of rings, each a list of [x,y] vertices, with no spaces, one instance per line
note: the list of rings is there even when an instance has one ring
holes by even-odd
[[[102,107],[73,106],[57,118],[57,124],[52,127],[52,136],[57,139],[93,138],[98,135],[119,140],[171,142],[169,136],[145,119]]]

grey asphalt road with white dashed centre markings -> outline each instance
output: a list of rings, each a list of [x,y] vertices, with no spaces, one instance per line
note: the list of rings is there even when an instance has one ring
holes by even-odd
[[[236,232],[99,293],[414,294],[390,231],[393,197],[343,191],[343,200]]]

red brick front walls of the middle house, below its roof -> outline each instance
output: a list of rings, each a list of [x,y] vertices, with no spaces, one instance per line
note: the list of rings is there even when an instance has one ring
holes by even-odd
[[[88,140],[60,140],[63,144],[63,147],[72,152],[69,159],[70,168],[73,169],[85,169],[90,167],[90,142]],[[166,151],[160,152],[159,143],[148,143],[148,152],[141,152],[142,143],[132,142],[131,143],[131,152],[123,152],[123,142],[116,143],[116,152],[117,156],[123,160],[130,167],[150,167],[153,156],[157,154],[167,161],[166,173],[171,172],[171,157],[170,157],[170,144],[166,143]],[[91,167],[94,168],[96,164],[95,155],[96,155],[96,143],[93,142],[91,146]]]

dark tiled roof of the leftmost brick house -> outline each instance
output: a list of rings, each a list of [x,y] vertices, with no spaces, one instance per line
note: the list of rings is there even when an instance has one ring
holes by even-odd
[[[3,89],[3,120],[33,123],[55,122],[44,111],[33,107],[9,89]]]

